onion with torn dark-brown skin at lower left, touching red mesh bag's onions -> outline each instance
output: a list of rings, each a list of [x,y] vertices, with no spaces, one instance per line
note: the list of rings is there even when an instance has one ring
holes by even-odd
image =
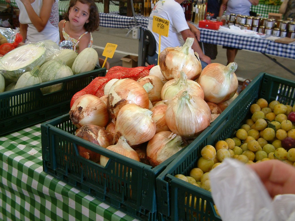
[[[142,108],[149,108],[148,93],[135,80],[124,78],[117,80],[109,90],[107,108],[112,118],[125,104],[134,103]]]

